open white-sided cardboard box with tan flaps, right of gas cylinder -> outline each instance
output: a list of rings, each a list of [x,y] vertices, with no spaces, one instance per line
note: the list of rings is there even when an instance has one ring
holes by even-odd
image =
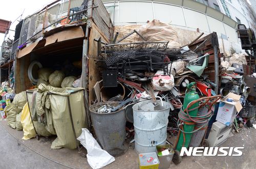
[[[239,101],[240,95],[230,93],[220,101],[218,113],[216,120],[229,126],[236,117],[237,112],[239,112],[243,107]],[[232,102],[227,101],[227,99],[233,99]]]

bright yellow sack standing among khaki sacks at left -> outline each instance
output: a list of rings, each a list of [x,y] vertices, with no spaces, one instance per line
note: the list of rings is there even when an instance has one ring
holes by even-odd
[[[30,118],[28,103],[23,107],[22,115],[20,116],[20,122],[23,126],[24,137],[22,139],[30,139],[35,137],[35,129]]]

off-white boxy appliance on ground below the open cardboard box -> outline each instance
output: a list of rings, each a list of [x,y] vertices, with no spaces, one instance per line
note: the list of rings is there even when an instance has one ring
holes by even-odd
[[[210,147],[219,147],[221,144],[226,142],[231,129],[232,125],[226,126],[221,122],[214,122],[207,138],[210,142]]]

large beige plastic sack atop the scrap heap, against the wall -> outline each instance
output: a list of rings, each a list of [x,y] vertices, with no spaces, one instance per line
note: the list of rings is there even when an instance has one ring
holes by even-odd
[[[180,48],[178,33],[175,27],[154,19],[142,25],[138,32],[148,41],[169,41],[169,48]],[[139,37],[138,41],[145,41]]]

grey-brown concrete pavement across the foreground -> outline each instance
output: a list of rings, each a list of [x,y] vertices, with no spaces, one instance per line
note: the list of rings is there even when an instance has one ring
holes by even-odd
[[[17,131],[0,121],[0,168],[91,168],[87,158],[82,158],[77,149],[51,150],[56,136],[23,140],[23,131]],[[169,140],[175,143],[176,137]],[[134,143],[133,143],[134,144]],[[138,168],[138,155],[129,144],[127,152],[116,157],[105,169]],[[244,147],[242,156],[184,156],[180,164],[170,168],[256,168],[256,129],[243,129],[227,139],[220,147]],[[83,148],[86,153],[86,149]]]

